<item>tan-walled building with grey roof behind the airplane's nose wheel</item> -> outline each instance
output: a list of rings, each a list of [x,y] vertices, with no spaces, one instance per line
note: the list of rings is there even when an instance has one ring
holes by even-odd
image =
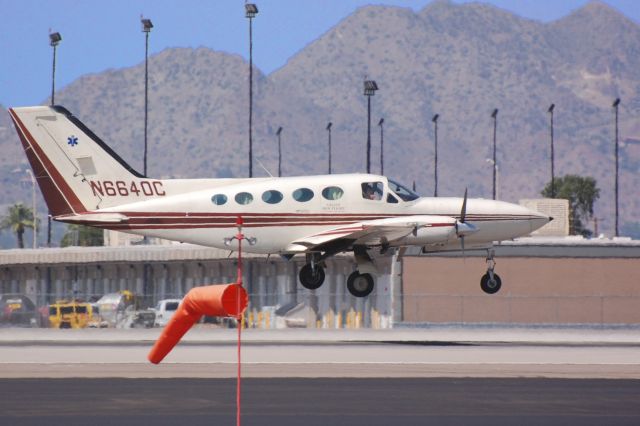
[[[403,321],[640,324],[640,246],[533,243],[497,249],[494,295],[480,289],[484,257],[406,257]]]

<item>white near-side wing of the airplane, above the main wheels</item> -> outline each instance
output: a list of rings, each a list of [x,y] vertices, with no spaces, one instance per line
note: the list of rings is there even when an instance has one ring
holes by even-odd
[[[416,215],[376,219],[338,226],[293,241],[287,252],[340,251],[354,245],[380,246],[405,238],[421,228],[455,226],[448,216]]]

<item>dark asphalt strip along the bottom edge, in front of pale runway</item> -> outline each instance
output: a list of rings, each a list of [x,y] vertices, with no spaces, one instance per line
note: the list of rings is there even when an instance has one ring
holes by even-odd
[[[245,379],[243,425],[638,425],[640,381]],[[231,425],[234,379],[2,379],[3,425]]]

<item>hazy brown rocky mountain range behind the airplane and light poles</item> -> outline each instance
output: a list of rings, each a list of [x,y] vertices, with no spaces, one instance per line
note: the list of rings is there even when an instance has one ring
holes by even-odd
[[[248,62],[207,48],[171,48],[149,58],[152,177],[246,177]],[[550,23],[499,8],[435,1],[420,11],[366,6],[264,75],[254,68],[254,175],[327,171],[332,122],[335,173],[366,170],[367,98],[372,167],[433,194],[438,119],[438,194],[490,198],[494,119],[498,198],[536,198],[550,180],[549,106],[556,176],[593,176],[600,231],[614,225],[614,115],[620,104],[620,222],[639,226],[640,27],[600,2]],[[26,84],[27,82],[25,82]],[[56,93],[136,169],[142,170],[144,63],[85,75]],[[47,100],[44,103],[48,102]],[[27,167],[0,107],[0,208],[30,200]],[[261,166],[262,165],[262,166]],[[28,181],[27,181],[28,182]],[[40,206],[43,206],[40,201]]]

